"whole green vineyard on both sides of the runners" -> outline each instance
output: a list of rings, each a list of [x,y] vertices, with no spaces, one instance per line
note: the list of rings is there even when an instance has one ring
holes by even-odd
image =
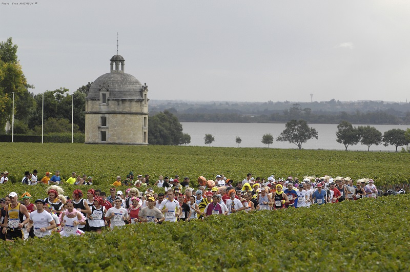
[[[47,185],[19,183],[25,171],[71,172],[93,176],[94,189],[109,192],[115,177],[149,174],[234,181],[254,177],[350,176],[373,178],[376,185],[410,181],[407,153],[86,145],[71,143],[0,143],[0,167],[11,191],[32,199],[46,197]],[[63,184],[70,196],[78,186]],[[84,187],[85,188],[85,187]],[[119,189],[126,189],[125,186]],[[154,188],[156,192],[163,189]],[[84,191],[84,190],[83,190]],[[410,265],[409,195],[344,201],[286,211],[238,213],[206,221],[128,225],[103,235],[16,241],[0,257],[2,270],[408,270]]]

